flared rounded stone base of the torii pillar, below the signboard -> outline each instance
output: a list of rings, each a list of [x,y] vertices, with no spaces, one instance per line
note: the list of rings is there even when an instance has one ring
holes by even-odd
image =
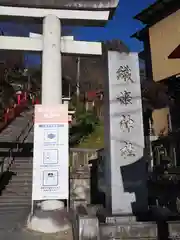
[[[42,233],[68,231],[71,225],[68,221],[64,203],[57,200],[40,203],[33,216],[28,217],[27,228]]]

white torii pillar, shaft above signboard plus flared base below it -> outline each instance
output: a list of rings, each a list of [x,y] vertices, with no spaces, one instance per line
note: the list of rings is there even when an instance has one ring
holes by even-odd
[[[62,103],[60,39],[60,20],[56,16],[48,15],[43,21],[42,105]],[[28,218],[27,227],[29,229],[44,233],[55,233],[70,228],[65,217],[66,209],[62,201],[42,201],[39,207],[40,209],[34,209],[33,216],[30,215]]]

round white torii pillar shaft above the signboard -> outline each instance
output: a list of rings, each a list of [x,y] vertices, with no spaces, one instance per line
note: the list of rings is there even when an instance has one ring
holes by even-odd
[[[62,103],[61,22],[54,15],[43,21],[42,104]]]

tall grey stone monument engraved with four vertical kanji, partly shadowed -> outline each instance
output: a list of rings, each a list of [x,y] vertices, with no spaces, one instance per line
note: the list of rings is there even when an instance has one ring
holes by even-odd
[[[148,202],[138,54],[109,51],[108,74],[106,204],[112,214],[142,214]]]

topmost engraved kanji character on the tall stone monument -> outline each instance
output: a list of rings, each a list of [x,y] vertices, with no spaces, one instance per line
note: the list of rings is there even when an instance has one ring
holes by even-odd
[[[122,79],[124,82],[134,82],[131,75],[131,69],[128,65],[120,66],[116,71],[116,74],[117,80]]]

